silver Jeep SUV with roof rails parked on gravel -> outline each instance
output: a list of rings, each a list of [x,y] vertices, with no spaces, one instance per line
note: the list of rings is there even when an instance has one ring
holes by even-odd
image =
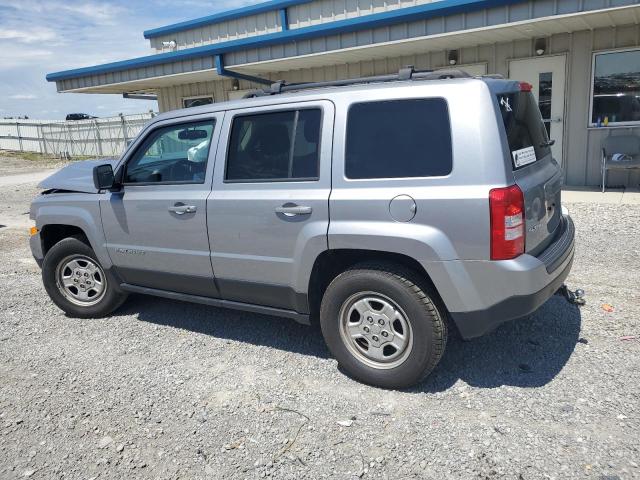
[[[156,117],[119,159],[31,206],[51,299],[101,317],[130,292],[319,321],[354,378],[429,374],[562,285],[574,227],[531,86],[462,72],[275,84]]]

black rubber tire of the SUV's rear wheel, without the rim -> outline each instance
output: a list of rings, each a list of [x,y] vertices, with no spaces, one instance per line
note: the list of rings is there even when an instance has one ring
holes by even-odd
[[[412,346],[406,358],[397,360],[401,361],[398,365],[375,368],[365,364],[349,341],[343,340],[343,305],[364,292],[390,299],[406,314]],[[320,308],[320,326],[329,350],[354,379],[383,388],[407,388],[429,375],[444,354],[447,324],[444,307],[438,304],[433,289],[412,270],[394,264],[360,264],[338,275],[327,288]]]

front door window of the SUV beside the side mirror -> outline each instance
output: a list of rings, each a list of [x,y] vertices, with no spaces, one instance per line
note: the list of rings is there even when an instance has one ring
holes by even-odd
[[[154,130],[127,163],[125,183],[203,183],[214,121]]]

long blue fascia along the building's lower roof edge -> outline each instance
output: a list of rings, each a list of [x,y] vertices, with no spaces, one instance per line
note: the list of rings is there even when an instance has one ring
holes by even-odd
[[[441,0],[427,3],[415,7],[401,8],[390,12],[375,13],[371,15],[338,20],[331,23],[321,23],[311,27],[284,30],[266,35],[231,40],[228,42],[203,45],[201,47],[188,48],[175,52],[159,53],[145,57],[122,60],[119,62],[106,63],[92,67],[77,68],[62,72],[50,73],[47,80],[50,82],[66,80],[101,73],[117,72],[131,68],[148,67],[173,61],[188,60],[191,58],[202,58],[207,56],[220,55],[227,52],[259,48],[269,45],[284,44],[300,40],[308,40],[325,35],[335,35],[340,33],[350,33],[358,30],[384,27],[401,22],[424,20],[432,17],[452,15],[456,13],[469,12],[483,8],[510,5],[521,3],[527,0]]]

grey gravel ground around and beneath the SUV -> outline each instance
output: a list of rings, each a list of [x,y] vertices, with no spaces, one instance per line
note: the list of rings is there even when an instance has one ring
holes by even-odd
[[[34,192],[0,192],[2,479],[640,478],[640,207],[568,205],[585,307],[453,338],[396,392],[284,319],[142,296],[65,317],[22,228]]]

